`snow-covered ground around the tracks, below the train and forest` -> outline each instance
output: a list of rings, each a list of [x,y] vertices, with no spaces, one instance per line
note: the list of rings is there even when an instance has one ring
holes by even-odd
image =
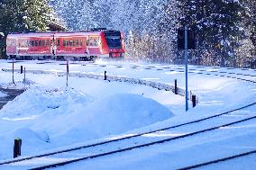
[[[66,87],[66,76],[54,74],[65,71],[65,62],[37,64],[40,62],[14,64],[15,68],[23,65],[26,70],[52,71],[50,74],[27,73],[26,84],[23,84],[22,74],[14,73],[16,85],[12,85],[12,73],[0,71],[1,86],[28,88],[0,111],[1,160],[13,157],[15,138],[23,139],[22,156],[32,156],[94,143],[113,138],[114,135],[157,130],[256,102],[255,84],[227,77],[229,72],[233,73],[232,76],[256,81],[256,71],[250,69],[189,66],[188,88],[197,94],[198,104],[192,108],[189,103],[189,110],[185,112],[184,97],[169,91],[146,85],[71,76],[78,72],[103,75],[106,71],[109,76],[133,77],[167,85],[174,85],[174,79],[177,79],[178,86],[184,88],[185,78],[181,66],[71,62],[69,87]],[[1,69],[11,67],[11,63],[0,60]],[[204,74],[197,74],[200,71],[204,71]],[[223,76],[215,76],[214,73]],[[248,108],[246,114],[253,115],[255,110],[255,107]],[[198,164],[255,149],[255,122],[246,121],[207,135],[165,142],[60,168],[174,169]],[[184,128],[185,131],[188,129]],[[256,156],[239,159],[242,164],[248,163],[249,166],[238,169],[253,169],[256,166],[253,158]],[[233,169],[233,165],[236,165],[233,162],[235,160],[227,161],[224,169]],[[220,165],[205,168],[215,167],[220,168]]]

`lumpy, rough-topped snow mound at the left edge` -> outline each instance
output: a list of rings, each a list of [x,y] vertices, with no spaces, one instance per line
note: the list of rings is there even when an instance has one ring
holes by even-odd
[[[73,112],[74,105],[87,103],[85,94],[73,89],[32,87],[17,96],[0,111],[0,118],[23,119],[41,114]]]

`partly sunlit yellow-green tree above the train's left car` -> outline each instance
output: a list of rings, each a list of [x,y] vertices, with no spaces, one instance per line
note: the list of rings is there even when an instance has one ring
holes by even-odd
[[[48,0],[2,0],[0,13],[0,31],[6,36],[15,31],[46,30],[52,11]],[[0,40],[1,58],[5,56],[5,38]]]

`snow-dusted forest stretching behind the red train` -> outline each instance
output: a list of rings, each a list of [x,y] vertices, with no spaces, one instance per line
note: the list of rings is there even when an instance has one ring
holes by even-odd
[[[125,58],[183,64],[178,28],[195,32],[191,65],[256,68],[254,0],[1,0],[0,32],[105,27],[125,34]],[[5,37],[0,41],[5,58]]]

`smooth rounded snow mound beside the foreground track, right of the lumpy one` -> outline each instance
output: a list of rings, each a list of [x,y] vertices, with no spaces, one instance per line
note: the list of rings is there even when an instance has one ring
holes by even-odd
[[[97,134],[118,134],[164,121],[173,116],[160,103],[139,94],[114,94],[87,107],[85,121]],[[101,134],[102,135],[102,134]]]

